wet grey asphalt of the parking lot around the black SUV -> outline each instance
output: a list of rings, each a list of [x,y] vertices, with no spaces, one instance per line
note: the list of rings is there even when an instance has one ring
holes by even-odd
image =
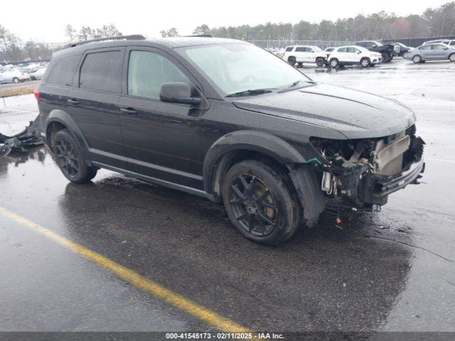
[[[414,109],[422,183],[262,247],[199,197],[110,171],[68,183],[43,147],[0,159],[0,206],[252,330],[455,331],[455,64],[302,70]],[[34,100],[0,102],[0,131]],[[1,214],[0,288],[0,331],[216,329]]]

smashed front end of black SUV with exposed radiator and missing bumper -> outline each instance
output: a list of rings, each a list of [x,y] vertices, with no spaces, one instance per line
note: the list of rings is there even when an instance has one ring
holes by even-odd
[[[415,130],[374,139],[312,139],[323,161],[321,190],[349,207],[385,205],[390,193],[422,177],[425,143]]]

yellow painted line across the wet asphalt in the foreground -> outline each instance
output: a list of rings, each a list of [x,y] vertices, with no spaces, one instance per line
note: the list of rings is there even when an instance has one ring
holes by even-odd
[[[7,210],[5,207],[0,206],[0,213],[5,217],[9,217],[11,220],[14,220],[19,224],[28,227],[28,229],[38,232],[39,234],[43,234],[45,237],[52,239],[54,242],[57,242],[58,244],[67,247],[68,249],[72,249],[73,251],[78,252],[85,258],[93,261],[95,264],[98,264],[105,269],[112,271],[114,274],[117,274],[117,276],[124,279],[125,281],[128,281],[134,286],[137,286],[138,288],[151,293],[152,295],[160,298],[163,301],[166,301],[176,308],[186,311],[199,320],[208,323],[208,325],[213,325],[214,327],[224,331],[250,332],[250,330],[247,328],[242,327],[241,325],[237,325],[237,323],[229,320],[228,318],[225,318],[218,313],[215,313],[215,311],[205,308],[202,305],[199,305],[198,303],[193,302],[190,299],[185,298],[154,281],[151,281],[149,278],[145,278],[144,276],[137,274],[127,267],[111,261],[107,257],[102,256],[95,251],[87,249],[86,247],[82,247],[82,245],[75,242],[71,242],[70,239],[66,239],[59,234],[50,231],[50,229],[46,229],[45,227],[42,227],[41,225],[36,224],[31,220],[21,217],[20,215]]]

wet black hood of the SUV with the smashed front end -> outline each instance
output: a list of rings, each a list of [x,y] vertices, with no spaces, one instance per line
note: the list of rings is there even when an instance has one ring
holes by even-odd
[[[412,110],[394,99],[321,83],[243,97],[234,104],[240,109],[336,129],[348,139],[396,134],[415,121]]]

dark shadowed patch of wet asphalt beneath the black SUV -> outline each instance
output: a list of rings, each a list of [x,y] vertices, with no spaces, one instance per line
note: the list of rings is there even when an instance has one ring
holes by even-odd
[[[375,213],[337,227],[326,212],[262,247],[220,205],[120,175],[69,183],[58,204],[76,242],[256,330],[373,330],[410,269],[410,249],[368,238]]]

